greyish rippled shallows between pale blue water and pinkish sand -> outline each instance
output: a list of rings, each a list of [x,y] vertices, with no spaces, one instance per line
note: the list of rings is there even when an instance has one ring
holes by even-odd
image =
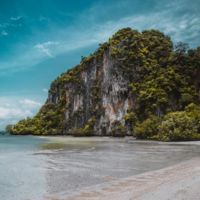
[[[85,187],[161,169],[200,153],[197,145],[122,138],[56,137],[46,147],[42,152],[47,151],[47,194],[55,199]]]

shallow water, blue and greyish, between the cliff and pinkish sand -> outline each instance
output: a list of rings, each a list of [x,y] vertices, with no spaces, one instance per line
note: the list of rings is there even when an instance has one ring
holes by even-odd
[[[130,138],[0,136],[0,199],[63,197],[199,153],[199,145]]]

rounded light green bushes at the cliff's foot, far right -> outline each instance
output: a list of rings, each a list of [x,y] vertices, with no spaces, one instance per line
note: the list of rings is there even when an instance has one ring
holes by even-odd
[[[190,104],[184,111],[170,112],[162,118],[151,116],[136,125],[135,136],[161,141],[200,140],[200,107]]]

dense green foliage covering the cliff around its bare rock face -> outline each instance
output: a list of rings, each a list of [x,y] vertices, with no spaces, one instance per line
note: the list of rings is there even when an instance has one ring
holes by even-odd
[[[200,138],[200,47],[189,49],[183,43],[173,45],[170,37],[157,30],[119,30],[94,54],[82,58],[80,65],[58,77],[51,85],[51,95],[66,84],[73,84],[81,91],[81,72],[92,62],[103,60],[106,51],[129,81],[129,96],[135,101],[124,116],[125,125],[116,122],[111,135],[125,135],[128,126],[133,135],[141,139]],[[101,106],[96,103],[101,101],[98,84],[91,94],[94,117],[75,130],[77,136],[92,135],[95,116],[101,113]],[[34,118],[8,127],[9,131],[13,134],[62,134],[66,109],[66,95],[61,91],[56,105],[47,102]]]

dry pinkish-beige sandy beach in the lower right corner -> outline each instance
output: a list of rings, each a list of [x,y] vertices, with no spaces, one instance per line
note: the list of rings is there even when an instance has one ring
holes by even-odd
[[[107,184],[66,200],[199,200],[200,158]]]

